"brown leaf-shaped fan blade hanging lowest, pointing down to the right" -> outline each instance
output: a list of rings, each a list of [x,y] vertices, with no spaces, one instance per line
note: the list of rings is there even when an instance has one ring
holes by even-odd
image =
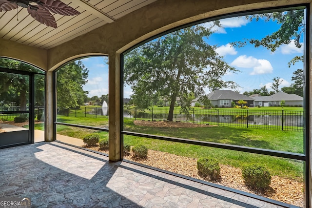
[[[30,6],[27,8],[28,13],[32,16],[35,20],[39,21],[42,24],[45,24],[50,27],[58,28],[57,22],[52,14],[42,7],[38,9],[33,9]]]

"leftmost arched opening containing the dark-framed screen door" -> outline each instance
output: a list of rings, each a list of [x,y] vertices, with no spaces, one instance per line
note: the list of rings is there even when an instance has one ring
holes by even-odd
[[[45,72],[0,58],[0,148],[45,141]]]

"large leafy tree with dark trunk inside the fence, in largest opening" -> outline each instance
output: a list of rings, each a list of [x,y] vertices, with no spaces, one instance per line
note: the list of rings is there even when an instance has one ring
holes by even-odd
[[[157,93],[170,102],[168,120],[178,100],[189,107],[189,93],[204,94],[211,90],[235,87],[222,76],[236,69],[227,64],[216,52],[216,46],[205,40],[212,34],[210,28],[196,25],[162,36],[145,43],[125,55],[124,83],[134,92],[133,104],[147,108]]]

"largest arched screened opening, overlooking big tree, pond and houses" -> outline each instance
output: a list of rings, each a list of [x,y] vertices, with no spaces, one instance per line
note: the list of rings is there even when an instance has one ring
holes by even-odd
[[[309,174],[306,10],[193,22],[124,52],[121,95],[129,100],[120,103],[121,134],[133,149],[124,158],[303,207]],[[217,176],[200,172],[202,158],[216,159]],[[248,182],[242,172],[254,165],[272,174],[271,185]]]

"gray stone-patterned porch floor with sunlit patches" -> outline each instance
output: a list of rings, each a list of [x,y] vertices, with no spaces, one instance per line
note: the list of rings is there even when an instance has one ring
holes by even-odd
[[[0,197],[38,208],[277,208],[58,142],[0,149]]]

